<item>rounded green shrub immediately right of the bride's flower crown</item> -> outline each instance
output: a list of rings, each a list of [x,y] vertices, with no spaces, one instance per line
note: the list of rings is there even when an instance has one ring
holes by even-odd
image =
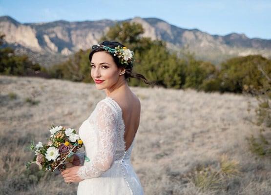
[[[177,57],[176,53],[169,53],[164,42],[156,42],[144,54],[138,57],[140,61],[135,64],[134,71],[156,81],[156,85],[165,88],[179,89],[184,84],[185,61]],[[130,85],[145,86],[137,80]]]

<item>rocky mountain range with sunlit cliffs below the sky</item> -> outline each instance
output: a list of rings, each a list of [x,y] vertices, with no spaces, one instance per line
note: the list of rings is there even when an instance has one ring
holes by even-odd
[[[128,20],[96,20],[69,22],[58,20],[42,23],[20,23],[9,16],[0,17],[0,32],[6,35],[5,46],[27,54],[42,65],[63,61],[80,49],[88,49],[110,26],[128,21],[141,23],[143,37],[162,39],[172,51],[188,48],[197,59],[215,64],[235,56],[261,54],[271,58],[271,39],[250,39],[245,34],[210,35],[198,29],[184,29],[157,18],[135,17]]]

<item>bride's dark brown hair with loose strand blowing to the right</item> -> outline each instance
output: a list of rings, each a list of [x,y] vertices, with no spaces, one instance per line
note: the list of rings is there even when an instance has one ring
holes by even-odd
[[[102,42],[102,43],[100,43],[100,44],[102,44],[102,45],[104,45],[104,46],[108,46],[108,47],[110,47],[110,48],[115,48],[115,47],[117,47],[118,45],[119,46],[121,46],[121,47],[124,47],[124,45],[123,44],[121,44],[121,43],[119,43],[119,42],[117,42],[117,41],[108,41],[108,40],[105,40],[104,42]],[[95,53],[95,52],[100,52],[100,51],[106,51],[105,49],[103,49],[102,47],[93,47],[93,49],[92,49],[92,51],[90,52],[90,54],[89,54],[89,61],[91,61],[91,59],[92,59],[92,56],[93,56],[93,54]],[[127,81],[130,81],[130,78],[137,78],[137,79],[142,79],[146,84],[149,84],[149,85],[152,85],[153,86],[153,84],[154,83],[156,83],[155,81],[148,81],[143,75],[141,75],[141,74],[137,74],[137,73],[135,73],[135,74],[133,74],[132,73],[132,69],[133,69],[133,66],[132,65],[129,65],[129,66],[125,66],[125,65],[123,65],[123,64],[121,64],[120,63],[120,61],[119,61],[119,58],[117,57],[117,56],[114,56],[112,53],[108,53],[108,54],[110,54],[111,56],[112,56],[112,58],[114,59],[114,62],[117,64],[117,66],[118,67],[123,67],[123,68],[125,68],[125,74],[124,74],[124,76],[125,76],[125,79],[127,80]]]

